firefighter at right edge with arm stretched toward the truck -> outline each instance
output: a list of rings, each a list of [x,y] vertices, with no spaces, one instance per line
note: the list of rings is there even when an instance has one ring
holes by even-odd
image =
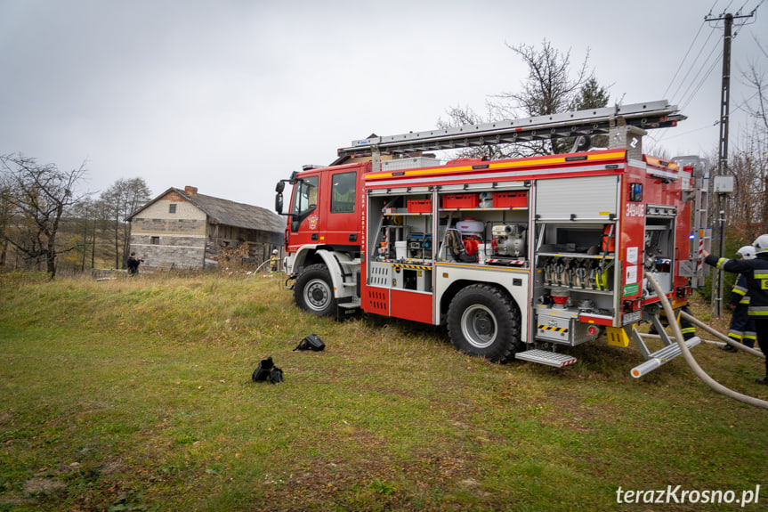
[[[766,355],[765,377],[756,378],[757,384],[768,386],[768,234],[757,237],[752,244],[755,259],[728,259],[703,251],[704,262],[725,272],[740,272],[747,280],[749,294],[748,316],[755,321],[757,345]]]

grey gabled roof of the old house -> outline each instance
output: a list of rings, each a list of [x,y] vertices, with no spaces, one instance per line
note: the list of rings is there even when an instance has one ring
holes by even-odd
[[[149,203],[133,212],[133,215],[128,217],[128,220],[133,220],[133,218],[140,215],[144,209],[150,207],[158,200],[163,199],[169,192],[176,192],[182,196],[182,198],[187,199],[191,204],[200,208],[206,215],[208,215],[208,222],[210,223],[237,226],[238,228],[259,230],[263,232],[281,233],[286,229],[286,221],[278,214],[273,213],[266,208],[255,207],[254,205],[247,205],[245,203],[237,203],[228,199],[214,198],[213,196],[206,196],[204,194],[190,194],[183,189],[174,187],[171,187],[158,195],[157,198],[152,199]]]

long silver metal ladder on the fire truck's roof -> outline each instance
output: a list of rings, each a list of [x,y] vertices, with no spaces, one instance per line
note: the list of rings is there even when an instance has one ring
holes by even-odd
[[[617,127],[635,127],[641,130],[667,128],[676,126],[677,121],[684,119],[685,116],[678,113],[676,105],[670,105],[666,100],[661,100],[600,109],[575,110],[533,118],[509,119],[442,130],[428,130],[385,137],[371,136],[367,139],[352,141],[352,145],[349,147],[340,148],[338,156],[348,157],[368,151],[373,153],[407,153],[543,141],[579,135],[610,134],[611,129]],[[621,143],[623,142],[625,141]]]

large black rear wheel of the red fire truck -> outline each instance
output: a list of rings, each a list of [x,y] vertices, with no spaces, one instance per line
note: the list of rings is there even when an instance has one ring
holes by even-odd
[[[450,302],[448,333],[465,354],[507,362],[520,345],[520,310],[500,289],[473,284]]]

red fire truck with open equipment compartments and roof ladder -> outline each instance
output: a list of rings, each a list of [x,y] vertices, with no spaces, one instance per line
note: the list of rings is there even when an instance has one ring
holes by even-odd
[[[283,215],[295,303],[445,325],[458,350],[494,362],[564,366],[576,361],[568,347],[633,339],[640,377],[679,354],[643,276],[686,305],[708,243],[691,220],[703,220],[693,215],[706,205],[694,186],[703,161],[642,152],[647,130],[681,119],[662,101],[353,141],[332,165],[278,183],[280,214],[292,185]],[[426,153],[594,135],[608,148],[444,164]],[[662,349],[651,353],[640,321],[658,328]]]

